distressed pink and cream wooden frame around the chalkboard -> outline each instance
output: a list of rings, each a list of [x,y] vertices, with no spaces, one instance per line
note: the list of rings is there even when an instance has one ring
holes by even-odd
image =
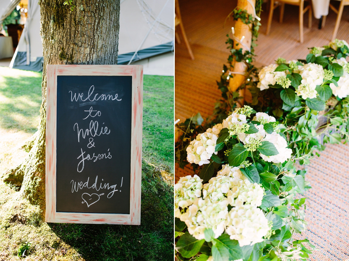
[[[130,214],[56,212],[56,134],[58,75],[132,76]],[[141,224],[142,65],[47,65],[46,96],[46,222]]]

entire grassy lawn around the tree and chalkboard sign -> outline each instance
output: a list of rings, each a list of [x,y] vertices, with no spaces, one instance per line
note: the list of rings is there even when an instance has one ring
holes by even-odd
[[[27,155],[41,73],[0,67],[0,175]],[[173,77],[144,75],[141,225],[45,223],[0,180],[0,260],[173,260]]]

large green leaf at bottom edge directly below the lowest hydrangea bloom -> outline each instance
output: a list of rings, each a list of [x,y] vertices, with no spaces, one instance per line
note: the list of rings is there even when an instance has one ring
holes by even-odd
[[[242,248],[237,240],[231,240],[228,234],[214,239],[212,256],[215,261],[236,260],[243,257]]]

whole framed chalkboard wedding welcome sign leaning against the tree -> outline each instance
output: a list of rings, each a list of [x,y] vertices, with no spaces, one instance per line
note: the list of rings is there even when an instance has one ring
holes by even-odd
[[[142,66],[47,65],[46,222],[140,224]]]

